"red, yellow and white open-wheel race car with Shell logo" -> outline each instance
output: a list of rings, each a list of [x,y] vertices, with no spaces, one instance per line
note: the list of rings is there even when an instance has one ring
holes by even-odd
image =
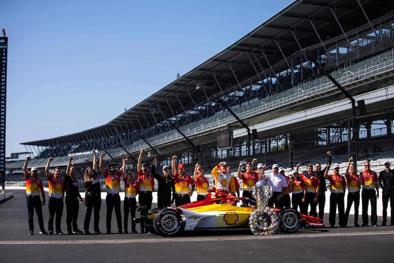
[[[233,206],[235,201],[247,200],[252,207]],[[151,209],[144,221],[151,232],[162,236],[174,236],[194,230],[229,230],[249,229],[249,216],[255,210],[255,201],[247,198],[229,195],[227,198],[216,198],[210,193],[205,200],[194,201],[183,206],[165,209]],[[296,232],[304,228],[323,228],[321,218],[301,215],[293,208],[272,208],[279,219],[280,231],[283,233]]]

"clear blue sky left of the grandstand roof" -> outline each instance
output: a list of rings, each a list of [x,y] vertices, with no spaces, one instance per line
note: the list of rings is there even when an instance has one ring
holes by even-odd
[[[292,2],[2,0],[6,156],[106,124]]]

